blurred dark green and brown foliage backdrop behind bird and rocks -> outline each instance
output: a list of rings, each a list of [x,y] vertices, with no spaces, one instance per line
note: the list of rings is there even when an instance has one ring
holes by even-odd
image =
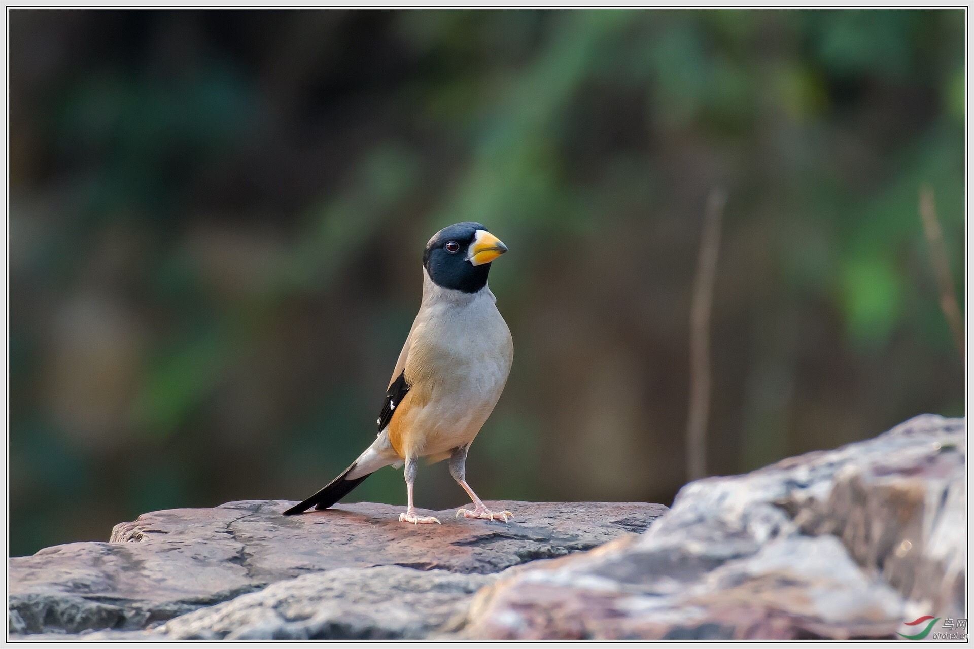
[[[963,56],[959,10],[12,11],[11,553],[323,486],[463,220],[510,248],[484,498],[684,484],[718,185],[710,473],[962,415],[917,203],[959,292]]]

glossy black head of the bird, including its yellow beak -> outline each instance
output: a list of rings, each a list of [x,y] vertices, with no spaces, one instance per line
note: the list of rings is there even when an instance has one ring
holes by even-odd
[[[476,293],[487,285],[490,263],[506,252],[507,246],[483,225],[465,221],[433,234],[423,267],[437,286]]]

